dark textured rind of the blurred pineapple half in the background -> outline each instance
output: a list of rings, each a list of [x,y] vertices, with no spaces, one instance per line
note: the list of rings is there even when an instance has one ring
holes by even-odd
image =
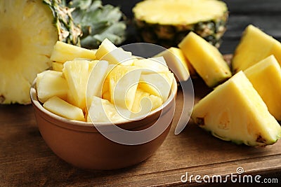
[[[155,5],[155,8],[157,4]],[[163,10],[166,11],[166,10]],[[134,24],[139,33],[141,41],[155,43],[165,48],[176,47],[189,32],[195,32],[203,39],[218,48],[221,45],[221,37],[226,32],[228,22],[228,8],[221,16],[192,23],[192,24],[161,24],[149,22],[138,18],[134,12]]]

